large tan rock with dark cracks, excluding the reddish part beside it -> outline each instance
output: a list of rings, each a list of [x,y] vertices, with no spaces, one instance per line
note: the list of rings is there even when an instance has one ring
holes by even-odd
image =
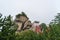
[[[18,25],[17,31],[29,29],[31,25],[31,21],[28,19],[28,17],[19,14],[19,17],[16,17],[15,23]]]

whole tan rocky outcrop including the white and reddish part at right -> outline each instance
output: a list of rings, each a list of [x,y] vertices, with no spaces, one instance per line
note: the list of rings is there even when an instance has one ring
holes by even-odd
[[[32,31],[37,32],[37,33],[41,32],[41,28],[39,26],[38,21],[31,23],[29,18],[22,15],[22,14],[19,14],[16,17],[15,23],[18,25],[17,32],[20,32],[20,31],[23,31],[26,29],[32,30]]]

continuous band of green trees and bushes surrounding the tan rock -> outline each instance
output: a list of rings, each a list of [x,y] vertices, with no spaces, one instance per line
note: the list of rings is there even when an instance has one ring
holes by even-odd
[[[55,21],[56,20],[56,21]],[[0,14],[0,40],[60,40],[60,14],[58,14],[47,28],[45,23],[41,24],[43,33],[37,34],[31,30],[18,32],[17,25],[11,15],[2,17]]]

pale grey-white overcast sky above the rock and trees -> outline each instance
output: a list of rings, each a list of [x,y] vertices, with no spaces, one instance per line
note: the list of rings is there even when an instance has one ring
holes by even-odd
[[[31,21],[48,24],[60,12],[60,0],[0,0],[0,13],[5,16],[25,12]]]

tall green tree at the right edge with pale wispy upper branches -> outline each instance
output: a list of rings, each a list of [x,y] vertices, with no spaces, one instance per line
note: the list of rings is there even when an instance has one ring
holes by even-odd
[[[52,23],[50,23],[51,26],[51,39],[52,40],[60,40],[60,13],[58,13],[57,16],[55,16],[55,19]]]

